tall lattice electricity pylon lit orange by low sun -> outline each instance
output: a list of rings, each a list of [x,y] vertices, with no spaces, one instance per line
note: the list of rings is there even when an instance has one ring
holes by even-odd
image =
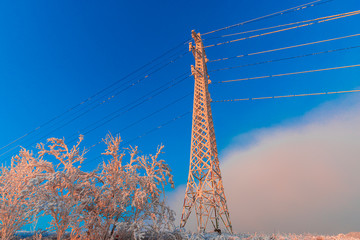
[[[199,33],[192,31],[195,46],[189,43],[189,51],[195,58],[194,107],[192,117],[191,153],[189,177],[186,187],[180,227],[185,227],[195,208],[199,232],[205,232],[211,222],[213,230],[232,233],[229,211],[226,205],[214,124],[211,114],[211,98],[208,84],[205,49]]]

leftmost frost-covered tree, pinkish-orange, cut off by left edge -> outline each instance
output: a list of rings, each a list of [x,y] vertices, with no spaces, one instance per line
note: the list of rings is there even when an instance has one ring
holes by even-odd
[[[1,239],[11,239],[22,226],[34,221],[38,213],[36,184],[51,169],[51,163],[25,149],[12,158],[10,167],[0,167]]]

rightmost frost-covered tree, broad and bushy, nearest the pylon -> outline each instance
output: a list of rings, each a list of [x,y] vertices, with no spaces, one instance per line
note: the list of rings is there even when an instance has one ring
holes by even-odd
[[[160,230],[170,229],[174,213],[165,204],[164,187],[173,176],[164,160],[159,158],[163,146],[155,155],[138,155],[138,149],[120,149],[121,138],[108,134],[104,139],[110,156],[103,162],[92,182],[91,194],[84,208],[87,239],[110,239],[114,233],[136,234],[148,230],[153,237]],[[128,161],[125,161],[127,154]],[[96,187],[97,186],[97,187]]]

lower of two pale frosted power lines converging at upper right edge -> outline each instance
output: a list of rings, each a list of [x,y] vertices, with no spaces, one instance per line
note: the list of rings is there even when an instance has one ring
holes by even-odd
[[[329,19],[326,19],[326,20],[318,20],[318,21],[314,21],[314,22],[311,22],[311,23],[306,23],[306,24],[302,24],[302,25],[298,25],[298,26],[294,26],[294,27],[283,28],[283,29],[279,29],[279,30],[275,30],[275,31],[256,34],[256,35],[243,37],[243,38],[239,38],[239,39],[234,39],[234,40],[230,40],[230,41],[226,41],[226,42],[215,43],[215,44],[205,46],[204,48],[217,47],[217,46],[220,46],[220,45],[234,43],[234,42],[238,42],[238,41],[243,41],[243,40],[247,40],[247,39],[251,39],[251,38],[267,36],[267,35],[274,34],[274,33],[280,33],[280,32],[284,32],[284,31],[288,31],[288,30],[292,30],[292,29],[297,29],[297,28],[301,28],[301,27],[307,27],[307,26],[314,25],[316,23],[328,22],[328,21],[332,21],[332,20],[336,20],[336,19],[340,19],[340,18],[355,16],[355,15],[358,15],[358,14],[360,14],[360,10],[359,11],[353,11],[353,12],[339,14],[341,16],[334,15],[334,16],[337,16],[337,17],[332,17],[332,18],[329,18]]]

